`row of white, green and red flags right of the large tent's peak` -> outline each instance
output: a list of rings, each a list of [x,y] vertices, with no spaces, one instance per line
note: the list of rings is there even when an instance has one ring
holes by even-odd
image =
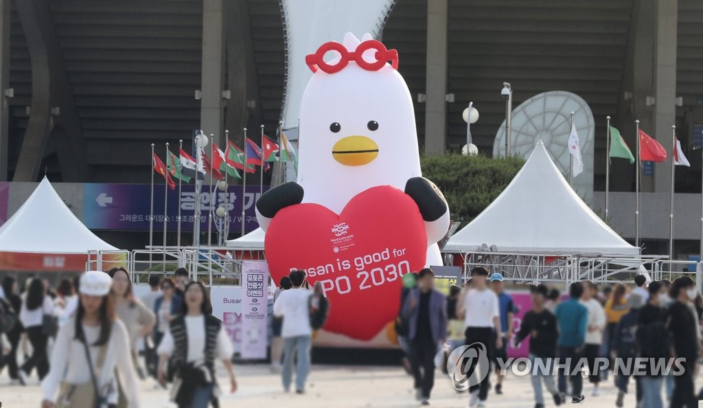
[[[674,137],[676,138],[676,136]],[[660,163],[668,158],[666,148],[643,130],[640,130],[639,143],[641,161]],[[569,134],[567,145],[569,146],[569,153],[574,157],[572,162],[572,174],[576,177],[583,172],[583,159],[581,158],[581,148],[579,148],[579,134],[576,132],[576,126],[574,126],[574,124],[572,124],[572,130],[571,134]],[[612,126],[610,126],[610,158],[624,158],[630,160],[630,164],[635,162],[635,156],[620,135],[620,131]],[[678,141],[678,139],[676,139],[676,150],[673,152],[673,163],[677,166],[690,167],[690,162],[688,162],[686,156],[683,155],[681,141]]]

